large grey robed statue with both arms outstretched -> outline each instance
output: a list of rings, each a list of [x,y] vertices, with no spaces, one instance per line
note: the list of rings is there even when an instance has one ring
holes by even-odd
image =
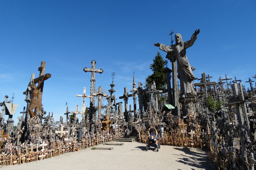
[[[195,76],[192,72],[188,58],[186,56],[186,49],[194,44],[197,39],[197,35],[200,30],[196,30],[192,35],[191,40],[186,42],[182,41],[181,35],[175,35],[176,43],[174,45],[166,46],[162,43],[154,43],[155,46],[159,46],[159,49],[165,52],[175,52],[177,60],[177,72],[178,78],[180,79],[180,89],[185,95],[185,97],[194,97],[196,96],[196,91],[194,90],[193,80]]]

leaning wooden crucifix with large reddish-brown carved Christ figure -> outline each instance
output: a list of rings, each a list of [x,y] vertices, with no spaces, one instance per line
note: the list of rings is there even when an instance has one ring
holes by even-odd
[[[32,83],[30,84],[33,98],[30,101],[30,105],[28,107],[28,112],[30,118],[36,116],[38,112],[41,111],[42,108],[42,94],[43,94],[43,87],[44,87],[44,81],[51,77],[51,74],[45,73],[45,61],[41,62],[41,66],[38,67],[38,71],[40,71],[39,77],[35,78]],[[36,83],[38,85],[36,86]],[[35,109],[33,111],[33,109]]]

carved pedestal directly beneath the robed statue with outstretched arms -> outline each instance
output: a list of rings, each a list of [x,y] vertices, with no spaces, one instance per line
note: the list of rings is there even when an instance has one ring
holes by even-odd
[[[196,97],[181,97],[180,102],[182,103],[182,115],[187,116],[191,111],[196,112],[195,103],[197,103]]]

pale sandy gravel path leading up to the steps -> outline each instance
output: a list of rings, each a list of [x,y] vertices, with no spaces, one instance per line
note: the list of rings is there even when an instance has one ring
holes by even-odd
[[[21,165],[3,166],[1,170],[80,170],[80,169],[116,169],[116,170],[215,170],[209,162],[208,150],[164,146],[158,152],[146,144],[124,142],[124,145],[99,145],[113,147],[113,150],[93,150],[66,153],[54,158],[24,163]]]

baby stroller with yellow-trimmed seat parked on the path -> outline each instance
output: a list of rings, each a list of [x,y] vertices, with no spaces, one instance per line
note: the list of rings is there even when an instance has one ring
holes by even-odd
[[[146,151],[148,151],[148,148],[154,147],[156,148],[157,152],[160,148],[160,143],[158,141],[159,134],[156,131],[156,128],[149,128],[148,129],[148,144],[146,144]]]

